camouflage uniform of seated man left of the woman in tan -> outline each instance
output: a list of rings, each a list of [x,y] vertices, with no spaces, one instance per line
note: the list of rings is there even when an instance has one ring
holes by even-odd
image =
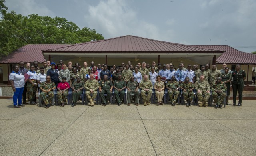
[[[142,68],[141,68],[142,69]],[[147,80],[145,81],[144,79],[140,82],[140,95],[142,96],[142,98],[145,101],[150,101],[151,96],[152,96],[152,89],[153,89],[153,85],[151,80]],[[144,89],[149,89],[148,91],[145,91]],[[146,96],[146,93],[148,93],[148,95]]]

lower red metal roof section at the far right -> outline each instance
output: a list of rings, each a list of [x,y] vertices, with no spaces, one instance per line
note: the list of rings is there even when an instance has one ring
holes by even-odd
[[[218,64],[256,64],[256,55],[234,49],[228,45],[193,45],[194,47],[225,51],[216,59]]]

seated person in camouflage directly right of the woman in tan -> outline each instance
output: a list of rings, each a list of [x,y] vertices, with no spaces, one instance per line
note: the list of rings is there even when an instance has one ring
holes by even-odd
[[[168,89],[168,95],[169,95],[169,98],[170,98],[170,101],[171,101],[171,105],[175,106],[176,101],[178,99],[178,96],[180,94],[180,91],[178,91],[179,82],[176,81],[174,75],[171,77],[171,80],[167,82],[166,88]],[[167,101],[167,103],[168,103],[168,101]]]

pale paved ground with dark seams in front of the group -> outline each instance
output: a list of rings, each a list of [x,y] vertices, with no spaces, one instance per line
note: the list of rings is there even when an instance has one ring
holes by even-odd
[[[36,105],[0,99],[0,156],[254,155],[256,101],[242,107]]]

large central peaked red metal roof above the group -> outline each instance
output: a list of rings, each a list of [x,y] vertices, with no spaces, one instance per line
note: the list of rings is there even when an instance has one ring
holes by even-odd
[[[222,50],[204,49],[191,45],[183,45],[170,43],[165,41],[157,41],[153,39],[141,38],[138,36],[120,36],[117,38],[104,39],[100,41],[92,41],[65,47],[45,50],[47,52],[213,52],[222,53]],[[44,51],[43,51],[44,52]]]

